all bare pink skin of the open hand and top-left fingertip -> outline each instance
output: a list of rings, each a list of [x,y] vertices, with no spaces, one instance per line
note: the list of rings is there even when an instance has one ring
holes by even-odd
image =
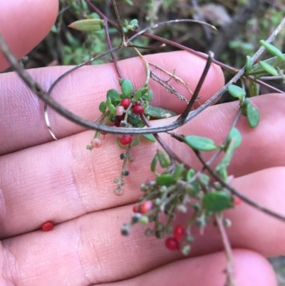
[[[20,58],[46,36],[56,19],[58,2],[0,0],[0,32]],[[4,11],[4,12],[3,12]],[[11,28],[11,26],[13,28]],[[204,61],[185,52],[148,56],[172,71],[194,89]],[[138,58],[121,61],[125,78],[142,86],[143,67]],[[0,55],[0,69],[7,63]],[[46,89],[67,67],[30,70]],[[213,66],[202,88],[203,103],[224,84],[222,71]],[[0,74],[0,285],[223,285],[225,255],[217,229],[196,233],[190,257],[167,250],[161,240],[146,238],[142,228],[120,235],[120,225],[130,220],[140,197],[139,183],[152,178],[150,160],[157,145],[143,142],[133,148],[135,160],[126,178],[125,194],[113,194],[113,178],[120,172],[116,136],[105,136],[100,149],[86,145],[93,131],[85,131],[49,111],[51,126],[59,138],[53,141],[43,120],[43,103],[15,73]],[[93,120],[98,103],[110,88],[118,88],[112,64],[87,66],[64,78],[52,96],[78,115]],[[152,86],[157,106],[181,112],[183,105]],[[235,188],[249,198],[285,215],[284,98],[270,94],[253,98],[261,122],[252,130],[240,118],[237,128],[242,145],[230,172]],[[207,108],[178,133],[208,136],[222,143],[238,109],[238,103]],[[154,121],[162,124],[165,121]],[[177,155],[199,168],[189,148],[162,134]],[[147,155],[146,155],[147,154]],[[264,213],[240,205],[227,212],[232,220],[228,234],[233,247],[239,285],[276,285],[266,256],[285,255],[285,224]],[[51,232],[39,230],[47,220],[56,223]],[[183,218],[177,218],[183,223]],[[155,282],[155,283],[154,283]]]

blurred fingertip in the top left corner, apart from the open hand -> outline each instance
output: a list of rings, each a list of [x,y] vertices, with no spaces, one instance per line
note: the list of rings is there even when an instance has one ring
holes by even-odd
[[[51,30],[58,13],[58,0],[0,1],[0,34],[17,58],[25,56]],[[0,53],[0,71],[9,63]]]

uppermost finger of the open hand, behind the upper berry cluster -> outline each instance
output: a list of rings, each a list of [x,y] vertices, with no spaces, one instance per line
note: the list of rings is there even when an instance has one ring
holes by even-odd
[[[197,85],[199,76],[204,69],[205,61],[202,58],[193,56],[184,51],[161,53],[146,56],[148,61],[167,69],[175,70],[176,76],[189,83],[192,91]],[[145,83],[145,71],[140,58],[130,58],[120,61],[119,66],[125,78],[130,78],[135,88],[140,88]],[[31,70],[33,78],[36,78],[46,90],[51,83],[61,76],[70,67],[52,67]],[[165,78],[165,76],[164,76]],[[169,76],[167,76],[169,78]],[[170,82],[182,94],[190,98],[185,87],[176,81]],[[27,148],[52,141],[50,133],[43,118],[43,103],[19,80],[16,73],[5,73],[0,76],[1,94],[1,122],[2,132],[0,138],[0,154]],[[206,101],[224,85],[224,76],[219,67],[212,65],[206,82],[202,86],[200,101]],[[180,101],[170,93],[167,93],[158,83],[151,83],[154,91],[153,105],[162,106],[176,112],[181,112],[186,103]],[[63,106],[70,111],[93,121],[100,116],[98,106],[106,98],[106,92],[110,88],[120,91],[118,76],[115,73],[113,64],[99,66],[86,66],[71,75],[63,78],[54,89],[51,96],[56,98]],[[69,136],[83,131],[53,111],[48,111],[51,127],[57,138]],[[16,131],[16,132],[15,132]],[[9,138],[9,143],[7,142]]]

